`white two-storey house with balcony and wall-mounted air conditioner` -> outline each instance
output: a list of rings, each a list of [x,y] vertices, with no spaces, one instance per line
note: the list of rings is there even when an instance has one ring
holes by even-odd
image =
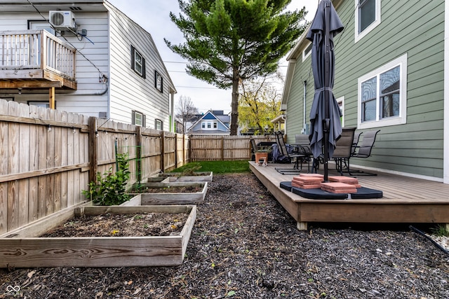
[[[0,98],[174,131],[152,36],[109,2],[0,0],[0,35]]]

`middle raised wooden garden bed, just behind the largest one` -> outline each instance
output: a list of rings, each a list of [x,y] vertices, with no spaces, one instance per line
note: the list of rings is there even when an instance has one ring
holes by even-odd
[[[207,182],[141,183],[129,191],[134,198],[128,204],[198,204],[204,202],[207,190]]]

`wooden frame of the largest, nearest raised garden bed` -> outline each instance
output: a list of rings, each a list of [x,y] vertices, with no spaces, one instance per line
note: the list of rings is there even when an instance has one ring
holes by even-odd
[[[101,214],[187,214],[179,235],[39,237],[76,216]],[[147,267],[181,265],[196,206],[77,207],[0,236],[0,267]]]

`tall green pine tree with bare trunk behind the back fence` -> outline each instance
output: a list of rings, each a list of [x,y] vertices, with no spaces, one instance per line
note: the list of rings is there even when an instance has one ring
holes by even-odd
[[[285,11],[291,0],[178,0],[171,20],[185,43],[173,52],[189,61],[187,74],[218,88],[232,87],[231,134],[237,134],[239,83],[273,74],[304,32],[305,8]]]

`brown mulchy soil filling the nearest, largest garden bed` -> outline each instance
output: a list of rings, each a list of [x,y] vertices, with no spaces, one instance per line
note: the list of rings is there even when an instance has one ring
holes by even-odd
[[[179,235],[188,214],[102,214],[71,219],[41,237],[145,237]]]

